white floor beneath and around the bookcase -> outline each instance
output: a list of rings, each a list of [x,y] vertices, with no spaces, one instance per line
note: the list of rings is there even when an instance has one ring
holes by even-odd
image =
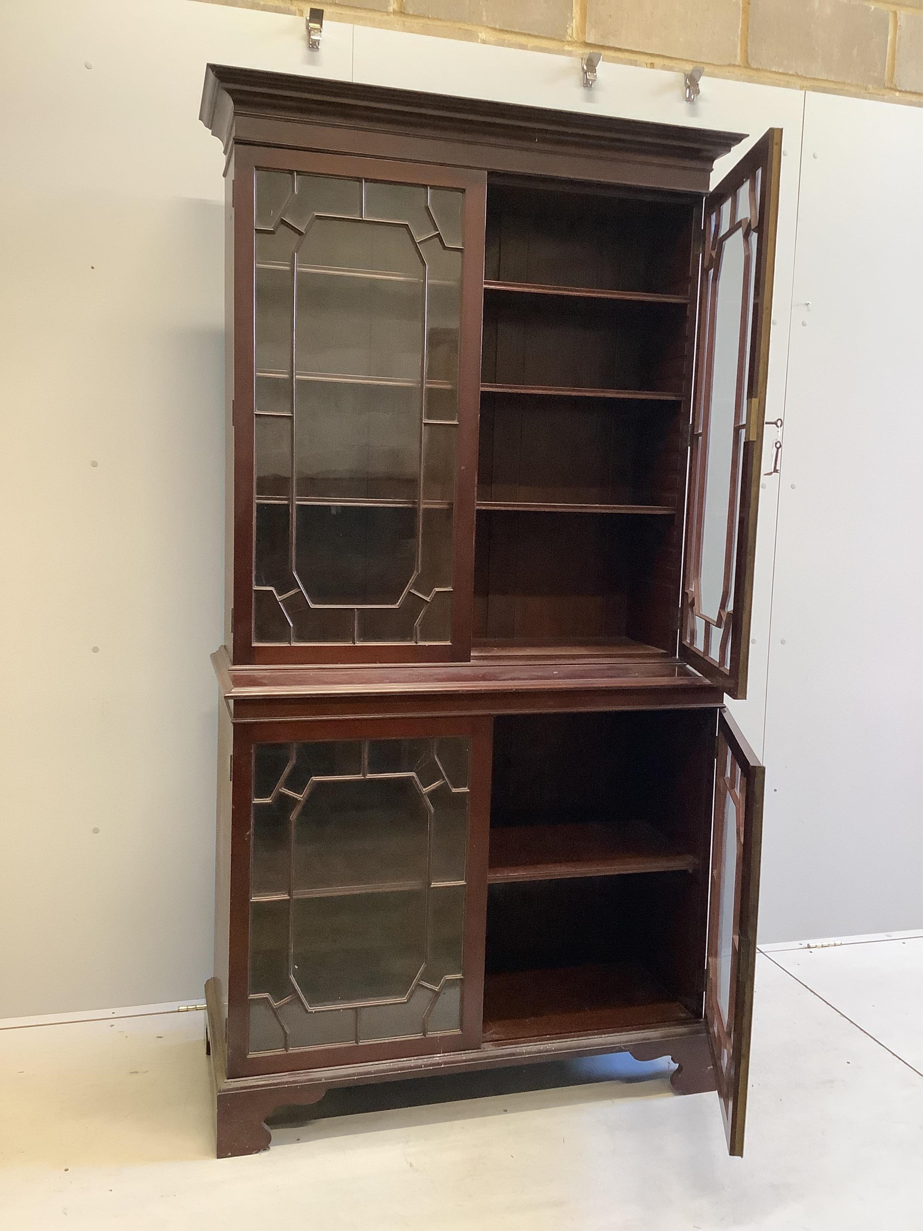
[[[4,1029],[0,1227],[919,1231],[922,970],[923,937],[759,955],[743,1160],[617,1057],[351,1092],[217,1162],[201,1013]]]

